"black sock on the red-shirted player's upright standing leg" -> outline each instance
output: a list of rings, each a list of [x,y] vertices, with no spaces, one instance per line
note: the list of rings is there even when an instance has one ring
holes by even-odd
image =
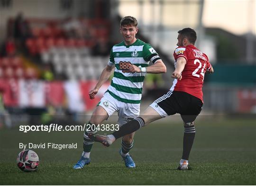
[[[184,136],[183,136],[183,154],[182,159],[188,160],[189,154],[195,138],[195,126],[184,126]]]

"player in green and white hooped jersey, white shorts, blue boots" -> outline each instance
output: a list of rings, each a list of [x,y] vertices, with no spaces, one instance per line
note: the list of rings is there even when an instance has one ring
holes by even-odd
[[[120,33],[124,41],[113,46],[108,65],[103,69],[94,89],[89,92],[90,98],[94,99],[101,85],[109,79],[112,70],[115,68],[111,85],[101,98],[88,122],[90,126],[100,125],[115,111],[119,115],[119,126],[139,116],[142,86],[146,73],[166,72],[165,64],[153,47],[136,38],[137,32],[138,27],[135,17],[127,16],[121,19]],[[148,67],[150,61],[154,64]],[[96,132],[97,130],[86,130],[84,132],[82,156],[74,165],[74,169],[81,169],[84,165],[90,163],[90,152],[94,142],[90,140],[88,133]],[[133,146],[134,134],[123,136],[119,152],[128,168],[135,168],[135,163],[129,155]]]

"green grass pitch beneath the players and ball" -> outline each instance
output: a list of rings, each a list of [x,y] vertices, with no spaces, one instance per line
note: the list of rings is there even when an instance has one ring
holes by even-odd
[[[255,118],[202,117],[190,155],[191,170],[176,170],[182,155],[179,119],[144,127],[131,151],[135,169],[119,155],[120,141],[106,148],[94,144],[91,164],[72,169],[82,152],[83,132],[0,130],[0,185],[256,185]],[[18,143],[78,143],[73,150],[32,149],[39,155],[37,172],[16,165]]]

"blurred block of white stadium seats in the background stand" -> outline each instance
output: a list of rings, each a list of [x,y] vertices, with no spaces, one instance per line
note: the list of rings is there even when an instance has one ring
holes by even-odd
[[[69,79],[98,79],[109,59],[90,56],[88,48],[82,50],[54,48],[42,54],[42,60],[45,63],[51,62],[56,73],[64,73]]]

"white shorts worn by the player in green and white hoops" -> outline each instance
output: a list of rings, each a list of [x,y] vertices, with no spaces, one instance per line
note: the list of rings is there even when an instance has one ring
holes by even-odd
[[[109,117],[118,112],[118,124],[119,127],[126,124],[129,120],[139,116],[140,104],[125,103],[113,98],[110,93],[104,93],[98,106],[103,107]]]

